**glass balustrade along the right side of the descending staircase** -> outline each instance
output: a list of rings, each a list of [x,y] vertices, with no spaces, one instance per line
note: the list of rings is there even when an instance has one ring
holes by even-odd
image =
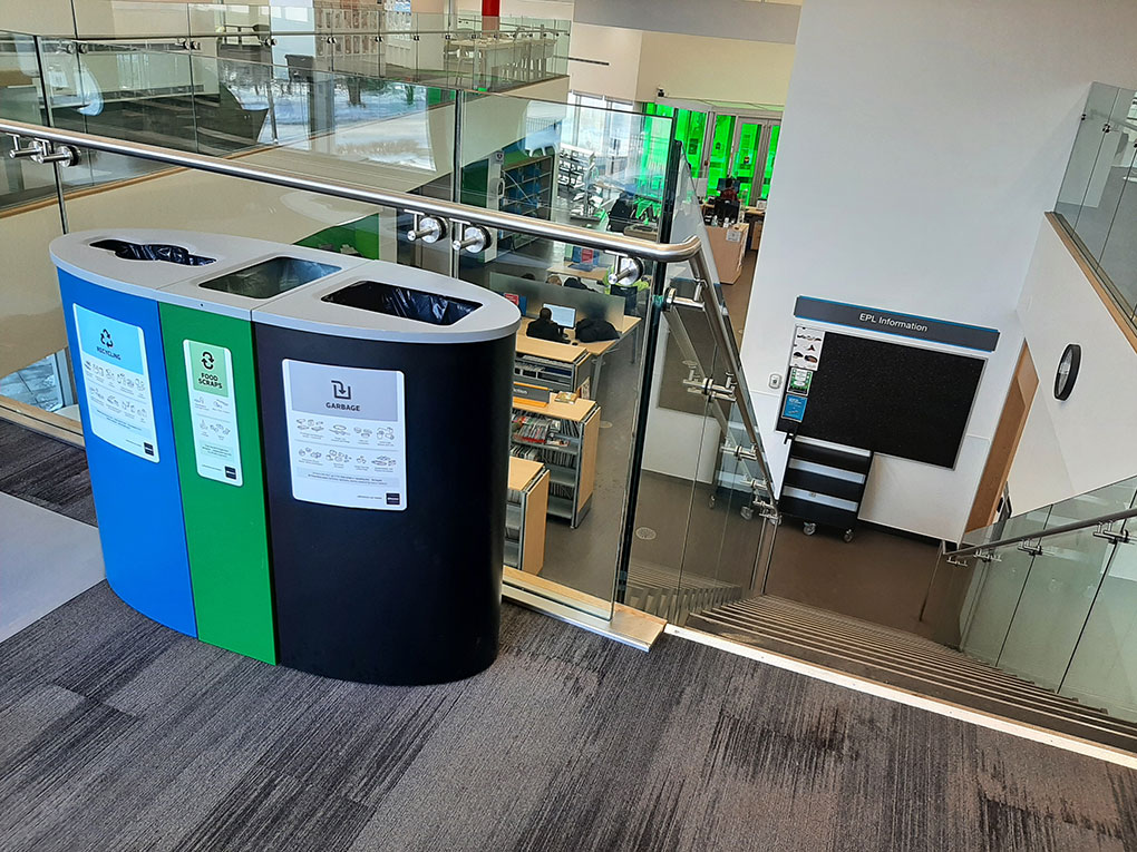
[[[969,533],[963,556],[941,557],[924,620],[976,659],[1137,719],[1130,512],[1137,478]]]

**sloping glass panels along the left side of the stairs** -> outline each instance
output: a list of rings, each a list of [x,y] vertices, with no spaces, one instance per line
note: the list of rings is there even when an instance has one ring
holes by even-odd
[[[670,130],[667,133],[670,134]],[[686,157],[669,239],[703,241],[702,267],[671,264],[644,421],[625,600],[682,624],[761,587],[775,526],[738,339],[730,324]],[[733,389],[741,389],[735,392]]]

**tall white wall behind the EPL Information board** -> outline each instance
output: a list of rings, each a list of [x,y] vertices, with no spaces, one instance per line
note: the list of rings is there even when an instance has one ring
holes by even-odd
[[[1089,83],[1137,84],[1134,11],[1122,0],[803,6],[742,345],[762,421],[777,414],[765,383],[786,369],[798,294],[1003,333],[956,470],[881,459],[863,517],[963,532],[1021,343],[1038,223]],[[779,454],[781,435],[765,440]]]

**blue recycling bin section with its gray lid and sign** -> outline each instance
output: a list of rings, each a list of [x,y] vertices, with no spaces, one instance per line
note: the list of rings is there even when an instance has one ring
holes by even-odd
[[[51,243],[107,582],[197,636],[177,459],[153,292],[227,258],[215,235],[80,232]]]

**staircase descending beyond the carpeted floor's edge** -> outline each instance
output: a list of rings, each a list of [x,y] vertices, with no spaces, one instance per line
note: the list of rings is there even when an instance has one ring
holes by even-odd
[[[972,710],[1137,752],[1137,724],[1115,719],[903,630],[770,595],[690,615],[686,626]]]

